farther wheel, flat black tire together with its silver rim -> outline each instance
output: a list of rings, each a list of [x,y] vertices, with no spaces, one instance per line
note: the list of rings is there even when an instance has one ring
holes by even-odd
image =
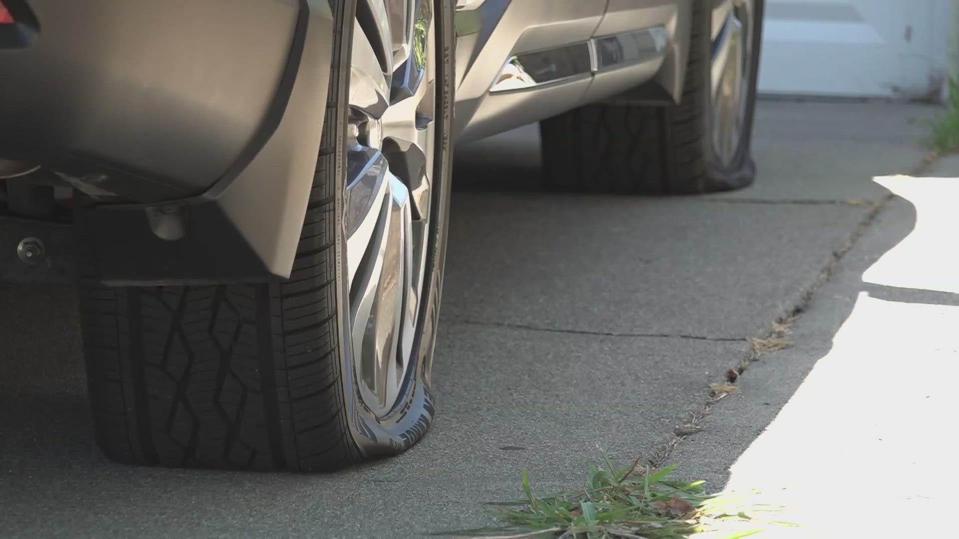
[[[749,185],[756,176],[750,143],[763,3],[692,2],[690,58],[678,105],[614,98],[543,121],[547,187],[688,195]],[[722,56],[730,47],[735,50]]]

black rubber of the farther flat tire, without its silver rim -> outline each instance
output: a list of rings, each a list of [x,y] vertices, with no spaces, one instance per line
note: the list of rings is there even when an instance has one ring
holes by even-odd
[[[679,105],[642,105],[614,98],[540,124],[544,181],[558,191],[686,195],[750,184],[750,154],[759,71],[762,0],[753,0],[752,54],[746,66],[743,123],[728,162],[713,144],[713,10],[692,2],[690,58]]]

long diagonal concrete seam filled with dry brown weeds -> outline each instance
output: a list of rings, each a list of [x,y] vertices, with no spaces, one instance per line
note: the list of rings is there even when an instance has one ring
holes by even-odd
[[[926,154],[920,163],[905,176],[922,176],[941,156],[942,155],[938,152],[930,152]],[[812,301],[815,293],[831,280],[832,275],[839,267],[842,259],[847,253],[849,253],[850,250],[852,250],[859,239],[865,235],[872,225],[876,223],[878,217],[886,209],[889,203],[896,198],[896,194],[889,193],[873,204],[870,211],[865,215],[865,217],[863,217],[861,221],[859,221],[859,223],[856,224],[854,229],[846,236],[846,239],[843,241],[843,243],[832,249],[830,258],[827,260],[823,268],[819,270],[812,281],[807,284],[807,286],[804,287],[800,293],[796,294],[794,299],[788,303],[788,307],[786,307],[780,313],[780,315],[773,319],[773,322],[766,330],[761,332],[759,336],[750,340],[751,344],[749,349],[746,351],[743,357],[738,360],[737,365],[726,371],[725,380],[710,384],[708,387],[707,398],[704,401],[697,403],[691,410],[688,411],[690,419],[683,425],[674,428],[671,433],[667,434],[665,439],[663,439],[657,446],[653,448],[649,454],[649,457],[646,458],[651,466],[658,468],[665,465],[667,458],[672,455],[673,450],[675,450],[676,447],[683,442],[683,440],[702,430],[703,427],[700,424],[712,412],[713,406],[715,406],[724,397],[738,390],[737,387],[733,386],[733,384],[737,382],[739,376],[742,375],[752,363],[759,361],[764,355],[774,353],[777,349],[782,349],[791,344],[791,342],[786,340],[784,346],[772,349],[771,351],[764,351],[761,348],[763,342],[768,342],[770,340],[784,340],[785,335],[790,333],[790,327],[795,320],[799,316],[802,316],[806,311],[807,306]],[[717,387],[721,387],[725,390],[717,391]]]

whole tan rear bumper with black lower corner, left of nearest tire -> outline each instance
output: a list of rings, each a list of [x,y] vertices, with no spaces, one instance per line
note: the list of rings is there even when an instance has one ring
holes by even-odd
[[[0,158],[133,201],[79,212],[103,280],[288,276],[326,109],[327,1],[29,6],[35,44],[0,50]]]

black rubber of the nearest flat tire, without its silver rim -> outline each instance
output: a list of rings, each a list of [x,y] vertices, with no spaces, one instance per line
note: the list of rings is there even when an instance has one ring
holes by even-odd
[[[364,1],[364,0],[361,0]],[[433,2],[433,0],[423,0]],[[397,404],[364,406],[349,351],[344,197],[356,0],[331,0],[334,67],[314,186],[292,275],[273,284],[82,285],[82,334],[96,440],[118,462],[312,472],[396,455],[426,434],[445,254],[453,13],[434,2],[436,114],[432,234],[414,363]],[[431,4],[427,4],[430,6]],[[339,135],[339,136],[338,136]],[[265,178],[267,179],[267,178]]]

